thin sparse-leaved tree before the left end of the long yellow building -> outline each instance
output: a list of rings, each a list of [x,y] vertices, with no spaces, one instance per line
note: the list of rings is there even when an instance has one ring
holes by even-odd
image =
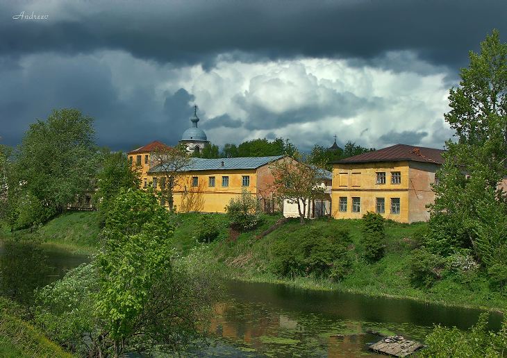
[[[185,144],[178,144],[174,148],[160,148],[151,152],[150,167],[157,167],[158,185],[160,196],[163,203],[169,205],[169,211],[174,212],[174,188],[183,187],[185,180],[185,171],[190,164],[192,157],[187,151]]]

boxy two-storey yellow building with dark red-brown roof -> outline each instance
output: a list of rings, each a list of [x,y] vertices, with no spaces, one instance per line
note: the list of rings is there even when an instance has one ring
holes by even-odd
[[[397,144],[333,163],[331,214],[360,219],[377,212],[401,223],[427,221],[431,184],[444,151]]]

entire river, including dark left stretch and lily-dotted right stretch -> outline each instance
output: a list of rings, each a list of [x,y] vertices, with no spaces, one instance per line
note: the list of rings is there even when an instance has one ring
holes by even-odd
[[[33,245],[0,246],[2,293],[31,302],[33,289],[63,276],[90,258]],[[224,282],[226,298],[215,307],[207,348],[197,357],[362,357],[374,356],[367,333],[402,334],[422,341],[433,323],[467,329],[478,309],[444,307],[413,300],[294,289],[281,284]],[[490,327],[501,323],[490,314]],[[383,356],[385,357],[385,356]]]

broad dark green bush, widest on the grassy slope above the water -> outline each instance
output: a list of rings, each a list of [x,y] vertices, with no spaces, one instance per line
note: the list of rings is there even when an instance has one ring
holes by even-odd
[[[297,237],[273,245],[271,268],[281,276],[315,275],[340,280],[349,270],[350,244],[345,230],[319,232],[308,226]]]

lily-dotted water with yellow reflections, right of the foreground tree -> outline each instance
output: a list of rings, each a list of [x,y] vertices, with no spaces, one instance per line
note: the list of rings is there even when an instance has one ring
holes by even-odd
[[[423,341],[433,323],[466,329],[476,323],[480,312],[274,284],[228,282],[228,294],[230,298],[215,307],[210,325],[219,341],[195,355],[376,356],[367,350],[367,343],[379,337],[368,330]],[[492,328],[497,328],[501,316],[490,318]]]

